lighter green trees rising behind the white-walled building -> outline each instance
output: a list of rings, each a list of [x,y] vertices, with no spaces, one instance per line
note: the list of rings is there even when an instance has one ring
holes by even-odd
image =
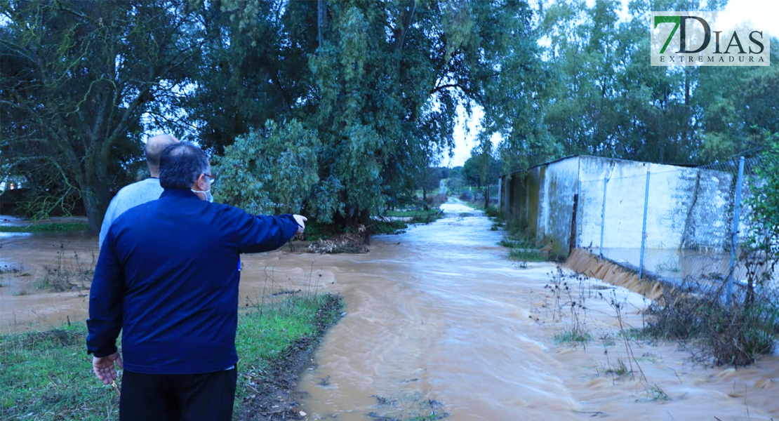
[[[661,9],[717,10],[721,3],[671,1]],[[650,66],[644,16],[657,5],[630,2],[633,17],[620,21],[622,5],[560,0],[541,19],[553,82],[541,94],[540,112],[565,154],[709,163],[754,154],[764,144],[761,131],[779,131],[770,88],[779,83],[779,66]]]

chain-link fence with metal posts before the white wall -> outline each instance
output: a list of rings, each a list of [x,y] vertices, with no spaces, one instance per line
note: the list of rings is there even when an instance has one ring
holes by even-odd
[[[727,285],[728,279],[736,285],[746,282],[749,274],[738,251],[748,240],[759,166],[758,159],[736,159],[581,180],[576,247],[631,267],[644,278],[713,288]]]

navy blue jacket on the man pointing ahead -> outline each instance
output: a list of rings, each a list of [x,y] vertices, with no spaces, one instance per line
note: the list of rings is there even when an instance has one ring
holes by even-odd
[[[166,189],[108,230],[90,289],[86,347],[146,374],[225,370],[238,361],[238,254],[271,251],[298,230],[291,215],[253,216]]]

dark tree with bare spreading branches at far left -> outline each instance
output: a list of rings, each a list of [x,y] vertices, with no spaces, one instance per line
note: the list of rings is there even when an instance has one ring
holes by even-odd
[[[0,2],[0,156],[51,198],[83,199],[97,232],[141,157],[141,118],[181,89],[205,39],[197,2]]]

